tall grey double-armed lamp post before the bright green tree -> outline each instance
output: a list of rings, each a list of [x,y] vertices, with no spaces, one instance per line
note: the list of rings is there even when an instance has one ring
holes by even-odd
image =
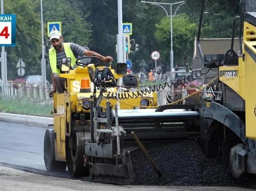
[[[174,68],[173,67],[173,27],[172,27],[172,23],[173,23],[173,19],[172,17],[176,15],[177,13],[177,10],[179,9],[179,7],[181,5],[183,5],[185,3],[185,1],[179,1],[179,2],[175,2],[175,3],[159,3],[159,2],[148,2],[148,1],[141,1],[142,3],[150,3],[151,5],[158,5],[158,6],[161,6],[161,8],[164,9],[166,15],[168,17],[170,17],[170,20],[171,20],[171,52],[170,52],[170,60],[171,60],[171,63],[170,63],[170,67],[171,67],[171,70],[170,70],[170,80],[172,79],[172,69]],[[179,4],[177,9],[175,10],[175,13],[174,15],[172,14],[172,5],[174,4]],[[168,14],[168,12],[166,11],[166,9],[162,6],[162,5],[170,5],[170,15]]]

